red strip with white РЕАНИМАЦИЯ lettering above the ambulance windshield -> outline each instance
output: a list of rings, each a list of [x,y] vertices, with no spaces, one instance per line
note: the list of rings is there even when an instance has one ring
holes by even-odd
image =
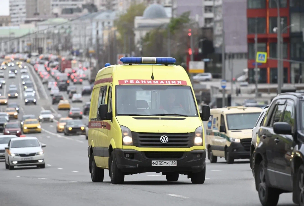
[[[122,84],[171,84],[171,85],[187,85],[185,80],[144,80],[144,79],[123,79],[118,81]]]

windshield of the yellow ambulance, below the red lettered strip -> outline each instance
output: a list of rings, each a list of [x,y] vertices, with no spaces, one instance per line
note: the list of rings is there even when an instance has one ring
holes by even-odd
[[[118,85],[116,115],[198,117],[190,86]]]

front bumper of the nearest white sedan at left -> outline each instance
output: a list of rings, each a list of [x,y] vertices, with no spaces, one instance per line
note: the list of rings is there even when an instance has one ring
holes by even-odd
[[[39,162],[40,160],[40,162]],[[41,162],[42,160],[42,162]],[[17,163],[13,163],[17,162]],[[19,156],[9,156],[9,164],[11,166],[35,166],[45,164],[44,155],[35,155],[32,157],[19,157]]]

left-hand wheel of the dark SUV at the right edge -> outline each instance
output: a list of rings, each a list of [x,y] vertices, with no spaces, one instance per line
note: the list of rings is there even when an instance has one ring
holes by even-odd
[[[259,195],[260,202],[263,206],[276,206],[279,201],[280,192],[272,187],[268,187],[265,178],[266,168],[264,161],[262,160],[259,167],[256,170],[254,179],[255,184],[258,188],[257,192]]]

